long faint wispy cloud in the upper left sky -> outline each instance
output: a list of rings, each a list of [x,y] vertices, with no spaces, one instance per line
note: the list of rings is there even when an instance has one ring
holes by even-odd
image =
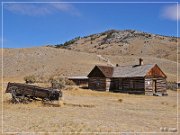
[[[54,12],[66,12],[71,15],[80,15],[72,4],[67,3],[8,3],[4,4],[4,8],[13,13],[29,16],[47,15],[53,14]]]

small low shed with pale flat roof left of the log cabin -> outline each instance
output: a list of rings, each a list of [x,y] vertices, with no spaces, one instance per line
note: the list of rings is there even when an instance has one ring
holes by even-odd
[[[74,77],[68,77],[68,79],[73,81],[78,86],[88,86],[87,76],[74,76]]]

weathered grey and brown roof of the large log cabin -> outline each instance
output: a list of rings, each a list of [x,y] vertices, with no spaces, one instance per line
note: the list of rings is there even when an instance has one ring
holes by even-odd
[[[146,64],[146,65],[129,65],[129,66],[99,66],[96,65],[93,70],[98,68],[102,74],[107,78],[118,78],[118,77],[145,77],[147,73],[157,64]],[[90,77],[93,70],[89,73]],[[162,72],[163,73],[163,72]],[[166,75],[163,73],[166,77]]]

